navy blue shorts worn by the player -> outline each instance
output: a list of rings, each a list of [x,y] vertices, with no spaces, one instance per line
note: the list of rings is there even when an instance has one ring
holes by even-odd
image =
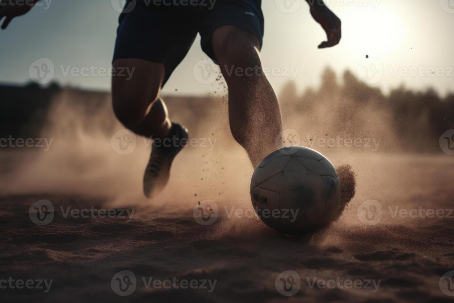
[[[215,62],[211,38],[219,26],[236,25],[246,29],[256,35],[262,44],[264,21],[261,2],[131,0],[119,17],[114,61],[137,58],[163,63],[165,83],[188,53],[197,33],[202,37],[202,50]]]

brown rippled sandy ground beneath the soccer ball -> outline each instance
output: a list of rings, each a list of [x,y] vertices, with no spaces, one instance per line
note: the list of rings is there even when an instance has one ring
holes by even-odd
[[[197,161],[184,163],[189,163],[185,157],[202,159],[202,154],[188,151],[177,159],[179,169],[201,169]],[[224,155],[229,156],[234,154]],[[239,177],[233,188],[224,184],[223,193],[211,190],[207,194],[197,192],[196,185],[191,185],[192,191],[178,192],[179,187],[188,187],[188,179],[173,170],[170,189],[159,201],[147,203],[140,195],[126,203],[64,194],[65,190],[8,193],[3,187],[0,278],[53,279],[48,293],[1,289],[3,302],[454,302],[439,287],[441,276],[454,270],[453,214],[450,218],[402,218],[399,214],[393,218],[395,207],[452,209],[453,159],[358,154],[340,160],[350,163],[357,174],[354,199],[336,223],[296,237],[278,234],[257,218],[228,218],[222,211],[232,206],[251,208],[250,173]],[[241,167],[247,171],[241,162],[226,167],[210,186],[219,191],[223,178]],[[55,207],[53,221],[44,226],[32,223],[28,214],[30,205],[40,199],[52,201]],[[214,224],[196,222],[192,209],[197,199],[217,202],[221,211]],[[375,225],[361,223],[357,215],[360,204],[369,199],[378,200],[383,209]],[[64,218],[60,209],[119,208],[120,204],[136,209],[131,221]],[[123,270],[137,278],[135,291],[126,297],[111,287],[111,279]],[[276,278],[287,270],[301,278],[299,291],[289,297],[276,289]],[[217,282],[211,292],[210,287],[146,288],[143,277],[145,281],[153,277]],[[311,288],[314,279],[375,280],[380,285]]]

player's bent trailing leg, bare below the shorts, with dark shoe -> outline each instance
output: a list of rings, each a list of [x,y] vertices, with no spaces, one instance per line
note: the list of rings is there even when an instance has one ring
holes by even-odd
[[[112,79],[112,104],[118,120],[139,135],[153,139],[152,152],[143,174],[143,192],[151,198],[159,194],[169,179],[174,157],[183,149],[181,139],[188,131],[171,123],[167,107],[159,98],[164,80],[164,65],[142,59],[117,59],[115,70],[133,71],[131,78]],[[157,139],[159,139],[158,143]]]

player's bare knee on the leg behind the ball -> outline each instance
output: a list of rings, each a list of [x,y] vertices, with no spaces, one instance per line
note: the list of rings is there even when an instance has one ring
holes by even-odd
[[[231,25],[222,26],[215,30],[212,46],[221,68],[222,65],[243,68],[260,65],[260,40],[247,30]]]

